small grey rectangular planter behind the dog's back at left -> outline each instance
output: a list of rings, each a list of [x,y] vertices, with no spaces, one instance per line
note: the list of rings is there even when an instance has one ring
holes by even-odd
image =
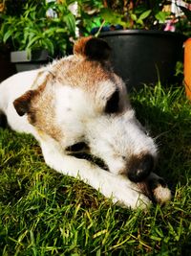
[[[11,62],[15,64],[17,72],[39,68],[48,63],[49,59],[46,50],[11,52]]]

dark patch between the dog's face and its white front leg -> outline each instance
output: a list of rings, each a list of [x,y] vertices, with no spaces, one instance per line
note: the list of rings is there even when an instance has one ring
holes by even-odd
[[[79,159],[86,159],[92,164],[109,172],[109,168],[104,160],[97,157],[96,155],[91,154],[90,148],[85,142],[75,143],[74,145],[67,147],[66,151],[69,155],[72,155]]]

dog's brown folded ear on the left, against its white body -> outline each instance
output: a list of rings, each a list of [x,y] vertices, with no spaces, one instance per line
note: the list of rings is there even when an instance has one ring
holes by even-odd
[[[35,94],[35,90],[29,90],[25,94],[14,100],[13,105],[19,116],[23,116],[29,112],[31,101]]]

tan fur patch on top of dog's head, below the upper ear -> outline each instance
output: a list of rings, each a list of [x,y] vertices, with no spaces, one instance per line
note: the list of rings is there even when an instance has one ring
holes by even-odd
[[[69,84],[90,92],[95,91],[101,81],[116,80],[108,63],[77,57],[57,61],[53,66],[53,74],[63,85]]]

